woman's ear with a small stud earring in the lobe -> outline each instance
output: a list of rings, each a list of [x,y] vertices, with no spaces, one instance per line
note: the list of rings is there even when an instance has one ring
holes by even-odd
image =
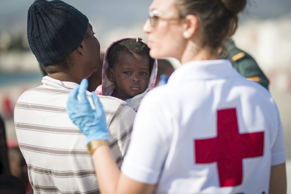
[[[198,29],[198,18],[195,15],[187,15],[184,18],[184,24],[183,24],[183,37],[188,39],[193,37],[195,32]]]

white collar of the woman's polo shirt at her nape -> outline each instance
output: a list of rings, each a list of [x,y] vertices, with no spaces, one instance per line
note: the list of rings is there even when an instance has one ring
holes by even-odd
[[[189,80],[223,79],[237,76],[231,62],[226,59],[190,61],[177,68],[168,83]]]

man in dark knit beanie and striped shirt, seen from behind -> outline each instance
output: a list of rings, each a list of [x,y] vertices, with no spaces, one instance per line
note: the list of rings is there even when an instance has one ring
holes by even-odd
[[[68,93],[98,69],[100,45],[93,28],[69,4],[37,0],[28,10],[27,39],[48,75],[43,85],[18,98],[14,112],[18,144],[34,193],[99,193],[86,137],[65,111]],[[135,112],[111,96],[99,99],[106,112],[109,146],[120,167]],[[93,104],[92,98],[89,101]]]

